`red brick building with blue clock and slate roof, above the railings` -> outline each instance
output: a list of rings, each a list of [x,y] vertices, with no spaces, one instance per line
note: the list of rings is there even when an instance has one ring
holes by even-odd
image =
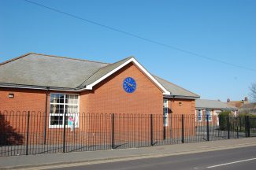
[[[0,64],[0,112],[42,113],[47,129],[63,127],[64,113],[68,125],[80,129],[93,128],[80,120],[82,113],[164,114],[162,124],[169,126],[169,114],[195,116],[195,98],[199,96],[151,75],[134,57],[108,64],[25,54]],[[36,120],[35,126],[39,121],[45,120]]]

